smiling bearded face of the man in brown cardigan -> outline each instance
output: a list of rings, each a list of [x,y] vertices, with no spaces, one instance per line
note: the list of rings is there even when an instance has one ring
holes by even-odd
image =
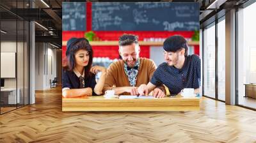
[[[124,62],[133,68],[140,54],[140,47],[136,43],[119,47],[119,54],[122,56]]]

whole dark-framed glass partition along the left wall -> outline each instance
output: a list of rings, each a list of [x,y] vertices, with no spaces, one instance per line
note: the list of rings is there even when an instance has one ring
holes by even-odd
[[[3,3],[15,10],[28,8],[28,2]],[[0,114],[3,114],[29,104],[29,22],[3,8],[0,11]]]

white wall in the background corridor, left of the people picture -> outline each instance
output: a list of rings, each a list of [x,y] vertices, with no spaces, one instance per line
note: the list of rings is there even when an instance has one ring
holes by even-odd
[[[49,43],[36,43],[36,90],[49,89],[50,79],[53,80],[56,77],[56,49],[53,48]]]

